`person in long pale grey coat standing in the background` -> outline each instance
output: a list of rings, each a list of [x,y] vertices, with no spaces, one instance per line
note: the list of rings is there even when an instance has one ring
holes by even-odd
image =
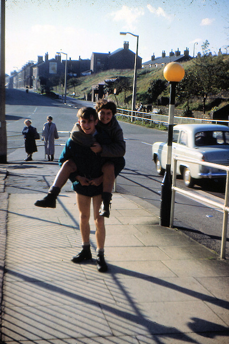
[[[48,155],[48,161],[53,161],[55,153],[54,140],[59,139],[56,124],[52,120],[52,116],[47,117],[47,122],[43,124],[41,135],[41,140],[44,142],[45,154]]]

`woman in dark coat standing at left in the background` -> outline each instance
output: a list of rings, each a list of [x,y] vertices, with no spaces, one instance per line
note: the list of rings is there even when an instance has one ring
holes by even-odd
[[[36,128],[34,128],[31,125],[31,120],[26,119],[24,121],[25,127],[22,131],[22,135],[24,135],[25,139],[25,151],[27,153],[27,158],[25,158],[25,161],[31,161],[32,160],[32,153],[37,152],[36,148],[36,142],[35,142],[35,135],[36,135]]]

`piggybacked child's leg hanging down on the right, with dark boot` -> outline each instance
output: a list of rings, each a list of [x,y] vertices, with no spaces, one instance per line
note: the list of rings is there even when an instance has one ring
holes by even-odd
[[[100,207],[100,216],[109,218],[110,201],[112,198],[112,190],[115,181],[114,164],[106,162],[102,168],[103,172],[103,202]]]

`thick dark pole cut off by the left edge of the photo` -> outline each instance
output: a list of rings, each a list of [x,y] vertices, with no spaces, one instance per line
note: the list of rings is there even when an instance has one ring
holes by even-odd
[[[0,163],[6,163],[7,126],[5,115],[5,0],[1,0],[0,30]]]

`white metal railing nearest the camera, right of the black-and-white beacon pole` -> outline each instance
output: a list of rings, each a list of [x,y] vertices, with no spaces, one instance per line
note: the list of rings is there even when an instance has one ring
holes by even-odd
[[[196,195],[194,192],[187,191],[176,186],[176,168],[177,168],[177,161],[185,161],[185,162],[192,162],[202,166],[208,166],[211,168],[222,169],[226,171],[226,187],[225,187],[225,198],[224,204],[213,201],[206,197]],[[196,161],[193,159],[181,159],[177,156],[173,157],[173,174],[172,174],[172,198],[171,198],[171,212],[170,212],[170,224],[169,227],[173,228],[173,219],[174,219],[174,204],[175,204],[175,192],[182,194],[186,197],[191,197],[193,199],[197,199],[198,201],[205,202],[207,204],[213,205],[216,208],[223,210],[223,223],[222,223],[222,236],[221,236],[221,251],[220,251],[220,258],[225,258],[225,250],[226,250],[226,233],[227,233],[227,221],[228,221],[228,212],[229,212],[229,166],[224,166],[212,162],[206,161]]]

